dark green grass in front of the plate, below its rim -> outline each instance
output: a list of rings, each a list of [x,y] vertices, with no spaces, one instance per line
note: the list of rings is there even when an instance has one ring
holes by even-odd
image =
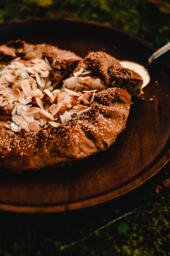
[[[170,255],[170,188],[162,184],[168,170],[93,208],[47,215],[1,212],[0,255]]]

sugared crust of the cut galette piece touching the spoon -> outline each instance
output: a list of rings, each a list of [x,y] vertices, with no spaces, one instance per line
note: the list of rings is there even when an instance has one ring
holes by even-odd
[[[93,75],[104,80],[107,87],[126,89],[132,98],[139,98],[143,94],[142,77],[130,69],[123,68],[119,60],[105,52],[90,52],[79,62],[75,71],[80,68],[85,71],[92,70]]]

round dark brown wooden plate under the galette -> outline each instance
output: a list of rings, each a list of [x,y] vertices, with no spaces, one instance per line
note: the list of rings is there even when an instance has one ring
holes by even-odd
[[[49,43],[82,57],[89,51],[105,51],[142,65],[153,52],[131,34],[76,20],[6,23],[0,25],[0,35],[0,44],[13,39]],[[154,175],[169,159],[169,71],[161,60],[152,65],[145,100],[131,106],[126,129],[105,152],[72,166],[0,173],[0,209],[31,213],[80,209],[118,197]]]

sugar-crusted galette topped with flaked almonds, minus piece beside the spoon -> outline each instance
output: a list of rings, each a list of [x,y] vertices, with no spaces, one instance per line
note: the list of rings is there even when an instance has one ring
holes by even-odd
[[[125,129],[131,97],[124,89],[107,88],[106,70],[113,60],[120,65],[100,54],[107,65],[102,58],[85,66],[86,58],[46,44],[17,40],[0,46],[1,171],[73,163],[115,142]]]

